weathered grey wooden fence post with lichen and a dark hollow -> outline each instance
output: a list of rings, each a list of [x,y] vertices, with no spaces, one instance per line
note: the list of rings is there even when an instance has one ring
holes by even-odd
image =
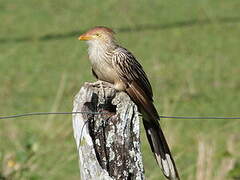
[[[90,112],[73,114],[81,180],[144,179],[138,111],[126,93],[86,83],[73,111]]]

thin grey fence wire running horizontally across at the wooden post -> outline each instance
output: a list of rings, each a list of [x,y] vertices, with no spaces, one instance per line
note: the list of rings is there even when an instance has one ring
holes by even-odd
[[[88,112],[88,111],[77,111],[77,112],[31,112],[31,113],[24,113],[24,114],[16,114],[16,115],[9,115],[9,116],[0,116],[0,119],[13,119],[19,117],[27,117],[27,116],[42,116],[42,115],[70,115],[70,114],[92,114],[92,115],[100,115],[100,114],[108,114],[108,112]],[[111,113],[112,114],[112,113]],[[141,114],[139,114],[141,115]],[[159,116],[160,118],[164,119],[239,119],[240,117],[201,117],[201,116]]]

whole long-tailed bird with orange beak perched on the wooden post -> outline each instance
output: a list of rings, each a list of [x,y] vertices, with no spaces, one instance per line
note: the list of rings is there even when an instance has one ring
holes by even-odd
[[[78,39],[88,44],[93,75],[99,81],[110,83],[116,91],[126,92],[138,106],[148,142],[164,176],[169,180],[180,180],[153,104],[152,87],[142,65],[130,51],[118,44],[111,28],[96,26]]]

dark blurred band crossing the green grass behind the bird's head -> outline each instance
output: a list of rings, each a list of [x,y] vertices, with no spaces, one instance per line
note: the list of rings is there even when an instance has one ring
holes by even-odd
[[[222,24],[222,23],[239,23],[240,17],[225,17],[225,18],[216,18],[214,19],[214,23]],[[143,24],[143,25],[135,25],[133,27],[120,27],[115,28],[116,32],[125,33],[125,32],[140,32],[140,31],[147,31],[147,30],[161,30],[161,29],[173,29],[173,28],[184,28],[184,27],[191,27],[191,26],[198,26],[198,25],[208,25],[213,24],[212,20],[210,19],[203,19],[203,20],[187,20],[187,21],[180,21],[174,22],[169,24]],[[19,38],[0,38],[0,43],[18,43],[18,42],[28,42],[28,41],[50,41],[50,40],[57,40],[57,39],[65,39],[74,36],[78,36],[82,34],[84,31],[71,31],[64,34],[46,34],[41,37],[19,37]]]

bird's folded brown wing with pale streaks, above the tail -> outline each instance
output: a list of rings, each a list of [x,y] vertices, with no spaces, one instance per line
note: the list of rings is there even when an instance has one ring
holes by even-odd
[[[120,79],[128,85],[126,89],[133,101],[145,113],[158,119],[158,113],[153,105],[152,87],[146,73],[136,58],[126,49],[116,49],[112,64]]]

